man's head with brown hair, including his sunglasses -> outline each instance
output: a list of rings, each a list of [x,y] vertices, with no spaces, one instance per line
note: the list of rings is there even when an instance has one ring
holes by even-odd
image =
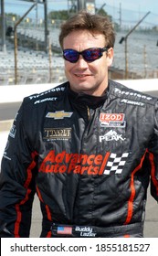
[[[62,24],[59,43],[71,90],[96,96],[104,93],[114,41],[112,24],[105,16],[82,11]]]

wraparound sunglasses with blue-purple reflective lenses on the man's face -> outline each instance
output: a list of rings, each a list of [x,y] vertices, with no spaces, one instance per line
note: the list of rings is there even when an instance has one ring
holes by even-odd
[[[108,48],[87,48],[82,51],[66,48],[63,50],[63,58],[71,63],[76,63],[79,60],[79,55],[81,55],[87,62],[92,62],[100,59],[104,51],[108,51]]]

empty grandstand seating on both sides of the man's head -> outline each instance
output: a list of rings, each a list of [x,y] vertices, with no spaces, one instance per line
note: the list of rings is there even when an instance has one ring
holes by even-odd
[[[58,44],[58,33],[61,21],[48,21],[48,43],[46,51],[45,27],[37,20],[22,22],[17,27],[17,84],[62,82],[66,80],[64,61]],[[7,27],[14,27],[13,20],[6,21]],[[110,69],[110,78],[124,79],[124,45],[121,37],[127,31],[116,33],[114,61]],[[129,79],[157,78],[157,34],[135,31],[128,39]],[[150,47],[146,47],[150,46]],[[0,85],[15,84],[15,50],[14,34],[6,35],[6,51],[0,51]]]

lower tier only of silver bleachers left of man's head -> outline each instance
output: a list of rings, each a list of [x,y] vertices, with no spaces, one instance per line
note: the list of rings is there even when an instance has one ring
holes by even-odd
[[[0,52],[0,84],[15,84],[15,56],[10,42],[7,51]],[[63,59],[54,53],[51,57],[44,51],[18,47],[17,84],[61,82],[65,79]]]

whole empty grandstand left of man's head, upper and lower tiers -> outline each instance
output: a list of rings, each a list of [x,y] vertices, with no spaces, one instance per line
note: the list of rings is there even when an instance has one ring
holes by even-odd
[[[46,51],[44,27],[24,24],[17,28],[16,84],[64,81],[64,62],[58,45],[59,30],[52,29],[47,42],[51,47]],[[11,26],[8,21],[7,27]],[[8,36],[6,33],[6,51],[0,51],[0,58],[0,84],[15,84],[14,33]]]

